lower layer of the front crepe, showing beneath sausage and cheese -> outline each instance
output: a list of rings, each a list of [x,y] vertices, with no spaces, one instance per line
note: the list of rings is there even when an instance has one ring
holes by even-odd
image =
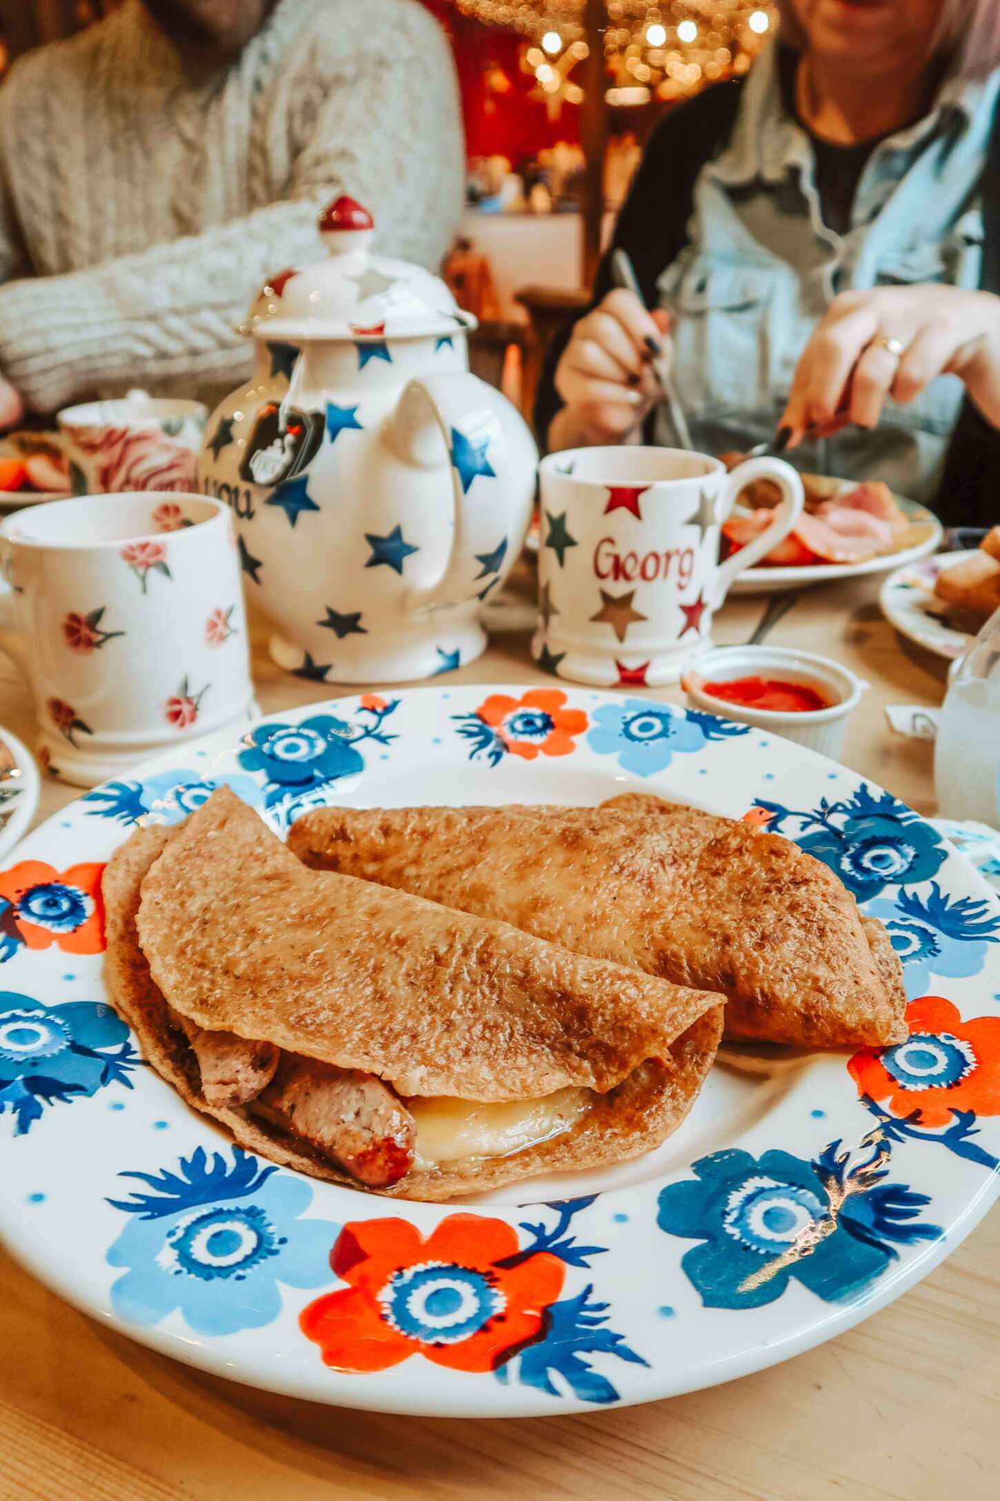
[[[318,1178],[361,1187],[274,1124],[255,1118],[252,1106],[217,1109],[205,1103],[195,1055],[183,1033],[171,1025],[169,1009],[150,974],[136,932],[141,883],[172,833],[138,829],[105,871],[105,965],[111,1000],[132,1025],[142,1054],[157,1073],[247,1151]],[[507,1157],[417,1168],[381,1192],[390,1198],[450,1199],[517,1183],[532,1174],[579,1171],[642,1156],[666,1141],[688,1114],[712,1066],[720,1034],[721,1006],[714,1006],[670,1045],[663,1061],[640,1064],[609,1094],[595,1096],[592,1106],[561,1136]]]

